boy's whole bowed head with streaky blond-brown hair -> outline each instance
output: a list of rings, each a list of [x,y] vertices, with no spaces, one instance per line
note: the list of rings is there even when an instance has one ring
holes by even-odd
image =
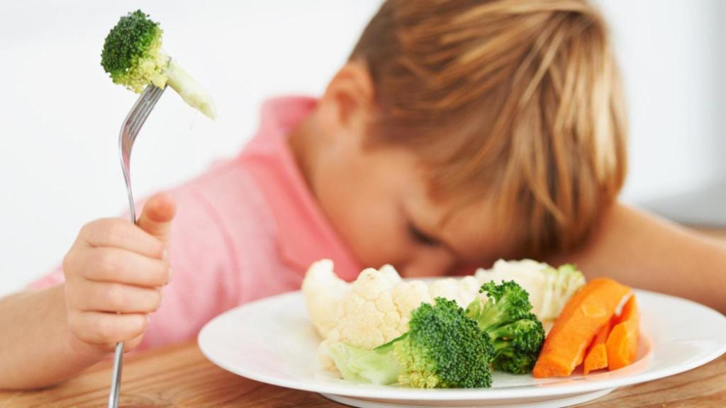
[[[388,0],[321,99],[311,184],[367,266],[564,250],[624,181],[623,109],[587,1]]]

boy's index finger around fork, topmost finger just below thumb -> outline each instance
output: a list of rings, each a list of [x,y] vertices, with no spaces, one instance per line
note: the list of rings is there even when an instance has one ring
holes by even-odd
[[[78,238],[93,248],[123,248],[152,258],[162,258],[166,245],[126,219],[99,219],[81,229]]]

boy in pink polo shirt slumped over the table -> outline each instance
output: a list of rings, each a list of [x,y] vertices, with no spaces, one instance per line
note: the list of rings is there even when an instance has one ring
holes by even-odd
[[[623,105],[584,0],[386,1],[320,99],[266,102],[237,158],[150,197],[138,227],[86,224],[62,268],[0,301],[0,388],[193,338],[319,258],[348,280],[574,262],[725,311],[724,248],[616,203]]]

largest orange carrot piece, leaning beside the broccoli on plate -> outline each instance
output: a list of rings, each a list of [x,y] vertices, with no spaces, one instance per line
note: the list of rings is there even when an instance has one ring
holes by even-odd
[[[532,375],[536,378],[566,376],[582,359],[585,348],[607,323],[630,288],[609,278],[584,285],[565,305],[544,340]]]

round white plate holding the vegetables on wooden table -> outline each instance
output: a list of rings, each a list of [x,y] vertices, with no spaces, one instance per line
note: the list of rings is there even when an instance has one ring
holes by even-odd
[[[229,310],[208,322],[198,341],[211,362],[237,375],[366,408],[565,407],[616,387],[693,369],[726,351],[724,315],[681,298],[636,293],[642,335],[635,363],[612,372],[543,380],[495,371],[492,388],[423,390],[340,380],[317,363],[320,338],[299,292]]]

